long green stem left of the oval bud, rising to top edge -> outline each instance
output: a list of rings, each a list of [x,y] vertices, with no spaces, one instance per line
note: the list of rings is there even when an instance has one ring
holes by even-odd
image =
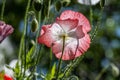
[[[22,34],[22,38],[21,38],[21,42],[20,42],[20,49],[19,49],[19,62],[21,61],[21,72],[20,72],[20,76],[22,75],[22,64],[24,65],[24,72],[23,72],[23,77],[25,76],[25,71],[26,71],[26,33],[27,33],[27,14],[28,14],[28,10],[30,7],[30,2],[31,0],[28,0],[27,3],[27,7],[26,7],[26,12],[25,12],[25,17],[24,17],[24,31]],[[24,55],[24,56],[22,56]],[[24,62],[25,61],[25,62]]]

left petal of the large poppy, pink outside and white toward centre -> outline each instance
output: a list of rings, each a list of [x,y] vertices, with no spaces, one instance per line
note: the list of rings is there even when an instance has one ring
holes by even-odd
[[[38,43],[51,47],[51,45],[59,39],[59,34],[63,30],[57,23],[54,23],[51,26],[44,25],[41,31],[42,35],[38,37]]]

